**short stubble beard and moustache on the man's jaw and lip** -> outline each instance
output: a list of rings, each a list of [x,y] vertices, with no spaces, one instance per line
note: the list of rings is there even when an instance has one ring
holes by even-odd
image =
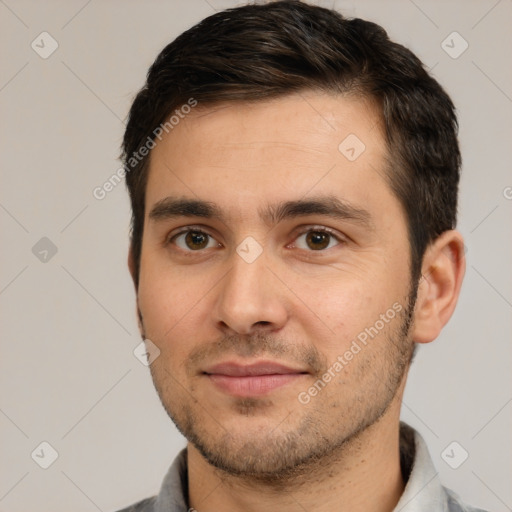
[[[222,426],[222,418],[209,415],[208,404],[198,403],[192,394],[183,392],[181,398],[176,400],[176,392],[181,391],[181,386],[165,367],[151,366],[153,382],[163,407],[178,430],[221,474],[259,481],[276,488],[284,487],[311,474],[315,466],[322,465],[325,469],[330,461],[342,456],[348,446],[357,446],[358,437],[385,415],[414,355],[414,343],[409,332],[415,300],[416,288],[405,301],[407,306],[395,319],[394,328],[388,326],[386,332],[369,342],[384,343],[384,350],[381,347],[381,350],[364,353],[367,350],[365,347],[350,363],[358,365],[352,376],[358,382],[362,379],[364,383],[351,395],[350,403],[338,401],[340,397],[333,396],[332,392],[327,395],[328,388],[336,386],[334,379],[312,400],[307,412],[304,413],[305,406],[297,401],[294,406],[298,409],[283,414],[283,425],[288,424],[288,420],[297,413],[301,414],[296,426],[288,430],[277,422],[259,437],[235,436]],[[230,353],[239,355],[286,353],[285,344],[276,343],[265,335],[245,340],[225,338],[218,346],[224,351],[229,347]],[[360,356],[365,359],[357,361]],[[317,366],[320,376],[326,369],[326,362],[313,349],[303,351],[300,359],[314,362],[313,366]],[[342,379],[341,376],[336,378]],[[340,389],[343,394],[344,389]],[[322,396],[325,396],[325,400],[322,400]],[[271,401],[265,398],[240,398],[234,402],[236,411],[244,416],[255,415],[269,405],[272,405]],[[290,418],[285,417],[286,414]]]

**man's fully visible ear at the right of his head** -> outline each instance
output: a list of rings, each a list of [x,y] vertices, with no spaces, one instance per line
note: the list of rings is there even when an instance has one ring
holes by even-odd
[[[413,340],[434,341],[452,316],[466,271],[462,235],[445,231],[429,245],[423,257],[414,308]]]

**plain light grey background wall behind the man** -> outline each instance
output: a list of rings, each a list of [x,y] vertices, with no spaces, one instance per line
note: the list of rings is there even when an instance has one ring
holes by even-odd
[[[512,510],[512,2],[316,3],[382,24],[458,107],[468,270],[454,317],[420,348],[403,419],[447,486]],[[0,0],[1,511],[115,510],[156,493],[185,444],[132,353],[124,183],[102,201],[92,190],[119,168],[123,119],[157,53],[236,4]],[[47,59],[31,48],[43,31],[59,45]],[[453,31],[469,43],[457,59],[442,47]],[[47,262],[32,252],[42,237],[58,249]],[[31,458],[42,441],[59,454],[46,470]],[[441,457],[452,441],[469,453],[456,470]]]

